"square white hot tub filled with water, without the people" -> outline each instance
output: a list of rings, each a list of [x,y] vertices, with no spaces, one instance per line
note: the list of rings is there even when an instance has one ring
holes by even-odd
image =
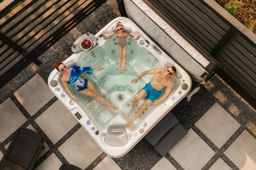
[[[116,38],[104,40],[102,35],[113,35],[114,26],[121,21],[125,31],[131,35],[139,35],[139,40],[129,37],[127,41],[126,70],[120,74],[118,65],[118,40]],[[67,107],[70,113],[78,120],[84,129],[95,140],[99,147],[111,157],[120,157],[129,152],[148,131],[150,131],[180,100],[182,100],[191,88],[189,75],[172,58],[166,55],[133,21],[125,17],[112,20],[96,35],[98,45],[89,51],[72,54],[64,63],[81,67],[104,67],[103,71],[94,70],[92,76],[81,74],[81,77],[91,81],[99,94],[109,103],[118,106],[116,117],[100,103],[87,96],[82,96],[72,86],[71,93],[78,97],[79,102],[73,101],[66,93],[60,78],[61,74],[54,69],[48,84],[52,92]],[[171,48],[171,47],[170,47]],[[178,55],[178,54],[177,54]],[[73,63],[73,64],[72,64]],[[168,98],[158,105],[151,105],[136,119],[131,127],[126,123],[144,103],[142,99],[135,107],[132,115],[125,120],[124,116],[129,111],[132,101],[138,92],[153,80],[154,75],[146,75],[138,83],[131,84],[131,80],[149,69],[166,69],[175,66],[177,72],[172,76],[174,87]],[[161,95],[165,93],[162,90]]]

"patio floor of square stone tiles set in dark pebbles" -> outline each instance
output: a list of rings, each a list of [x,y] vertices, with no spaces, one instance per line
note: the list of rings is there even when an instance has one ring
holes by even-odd
[[[108,15],[102,15],[106,13]],[[55,109],[59,101],[52,93],[38,103],[40,95],[48,94],[49,89],[38,90],[33,82],[39,81],[37,83],[47,87],[47,78],[54,69],[52,63],[65,60],[72,54],[70,46],[77,37],[88,30],[95,34],[119,16],[116,1],[108,0],[42,54],[39,57],[42,61],[40,66],[30,64],[0,89],[0,159],[15,131],[19,127],[27,127],[45,139],[46,149],[42,150],[42,156],[34,167],[36,169],[58,169],[62,163],[71,163],[83,169],[255,169],[256,111],[216,75],[193,95],[190,102],[183,99],[173,108],[172,112],[188,130],[188,134],[165,157],[158,155],[142,139],[126,155],[111,158],[98,148],[80,124],[72,119],[67,122],[56,120],[58,114]],[[30,88],[25,88],[25,84]],[[19,97],[20,94],[24,98]],[[24,102],[25,100],[28,102]],[[38,106],[33,106],[33,102]],[[220,121],[211,114],[212,109],[219,109],[216,113],[223,120]],[[45,115],[51,116],[57,129],[67,124],[59,136],[55,136],[56,131],[52,127],[42,125],[48,120]],[[65,113],[63,116],[70,115]],[[211,122],[207,116],[211,118]],[[209,127],[203,126],[204,123]],[[219,127],[222,129],[218,129]],[[223,134],[218,135],[218,132]],[[85,141],[85,138],[89,140]],[[84,147],[85,142],[90,147]],[[93,154],[83,154],[91,151]]]

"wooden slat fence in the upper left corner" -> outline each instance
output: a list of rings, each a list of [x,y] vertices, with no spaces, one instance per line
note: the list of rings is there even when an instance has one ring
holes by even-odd
[[[0,4],[0,88],[31,62],[40,65],[37,57],[104,2],[3,1]]]

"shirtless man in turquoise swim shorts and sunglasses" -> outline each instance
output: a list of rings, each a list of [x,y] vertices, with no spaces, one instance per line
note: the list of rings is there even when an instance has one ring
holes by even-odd
[[[133,122],[133,120],[137,119],[143,113],[146,107],[148,107],[152,103],[153,105],[156,105],[168,97],[173,87],[173,81],[171,79],[171,76],[173,76],[175,72],[176,72],[176,68],[174,66],[168,68],[166,71],[163,71],[160,69],[147,70],[147,71],[144,71],[140,76],[138,76],[137,78],[131,81],[131,83],[135,82],[134,84],[136,84],[138,80],[141,79],[146,74],[156,75],[154,80],[151,83],[146,84],[146,86],[139,92],[139,94],[137,95],[137,97],[134,99],[132,103],[132,108],[124,117],[125,119],[127,119],[132,113],[132,111],[134,110],[135,106],[137,106],[138,102],[142,98],[147,96],[147,100],[141,106],[140,110],[138,110],[138,112],[133,116],[133,118],[131,118],[131,120],[126,124],[128,127],[131,126],[131,123]],[[160,99],[158,99],[158,97],[161,95],[161,90],[166,86],[167,86],[167,89],[165,91],[165,94]]]

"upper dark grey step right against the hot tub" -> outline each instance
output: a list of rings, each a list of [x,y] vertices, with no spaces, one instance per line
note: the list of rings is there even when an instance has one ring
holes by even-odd
[[[146,139],[146,141],[152,146],[155,146],[157,142],[161,140],[162,137],[177,123],[179,123],[179,120],[173,115],[172,112],[169,112],[147,133],[144,139]]]

